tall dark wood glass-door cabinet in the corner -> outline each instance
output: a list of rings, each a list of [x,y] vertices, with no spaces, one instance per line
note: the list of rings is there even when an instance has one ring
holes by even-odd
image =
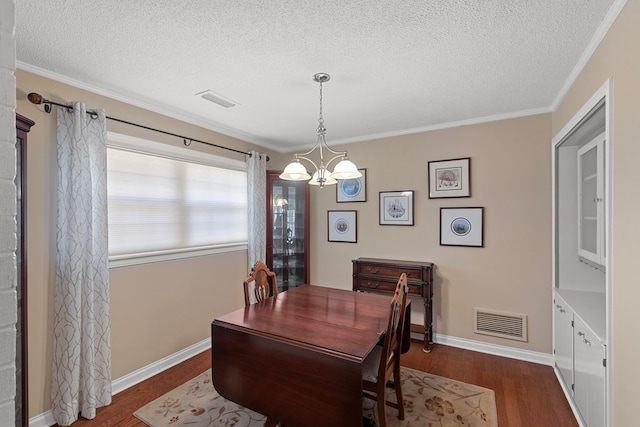
[[[267,266],[278,291],[309,282],[309,184],[267,172]]]

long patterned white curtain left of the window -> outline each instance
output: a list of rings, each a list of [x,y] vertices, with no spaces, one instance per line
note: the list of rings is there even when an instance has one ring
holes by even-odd
[[[111,403],[106,117],[58,108],[53,417],[92,419]]]

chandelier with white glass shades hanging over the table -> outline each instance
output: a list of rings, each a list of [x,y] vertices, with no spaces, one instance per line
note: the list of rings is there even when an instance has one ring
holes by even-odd
[[[306,153],[293,155],[291,163],[289,163],[287,167],[284,168],[282,174],[280,174],[280,178],[282,179],[290,181],[309,180],[309,184],[318,185],[320,188],[324,188],[325,185],[336,184],[338,179],[351,179],[362,176],[360,171],[358,171],[358,167],[347,157],[346,151],[332,150],[329,148],[327,141],[325,140],[327,128],[324,127],[324,119],[322,118],[322,84],[328,82],[329,79],[330,76],[327,73],[317,73],[313,76],[313,81],[320,84],[320,116],[318,118],[318,129],[316,129],[318,141],[316,142],[316,145]],[[318,164],[308,157],[316,150],[319,151],[320,155]],[[327,162],[325,162],[324,159],[325,151],[330,153],[329,155],[333,155],[333,157]],[[331,163],[338,159],[340,159],[340,161],[336,164],[333,172],[329,171],[328,168]],[[313,176],[309,175],[307,169],[302,163],[300,163],[300,160],[305,160],[313,165],[315,168]]]

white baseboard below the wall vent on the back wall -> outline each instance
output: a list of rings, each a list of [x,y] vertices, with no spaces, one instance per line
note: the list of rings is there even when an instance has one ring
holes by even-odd
[[[411,337],[423,340],[424,335],[411,331]],[[436,344],[448,345],[451,347],[463,348],[465,350],[478,351],[480,353],[494,354],[496,356],[508,357],[510,359],[523,360],[542,365],[553,366],[551,354],[537,351],[522,350],[514,347],[507,347],[498,344],[489,344],[481,341],[474,341],[465,338],[451,337],[448,335],[434,334],[433,342]]]

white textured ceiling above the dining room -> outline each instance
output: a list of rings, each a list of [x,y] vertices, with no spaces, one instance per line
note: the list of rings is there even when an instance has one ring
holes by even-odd
[[[17,0],[16,56],[287,152],[315,142],[317,72],[330,145],[550,111],[620,1]]]

